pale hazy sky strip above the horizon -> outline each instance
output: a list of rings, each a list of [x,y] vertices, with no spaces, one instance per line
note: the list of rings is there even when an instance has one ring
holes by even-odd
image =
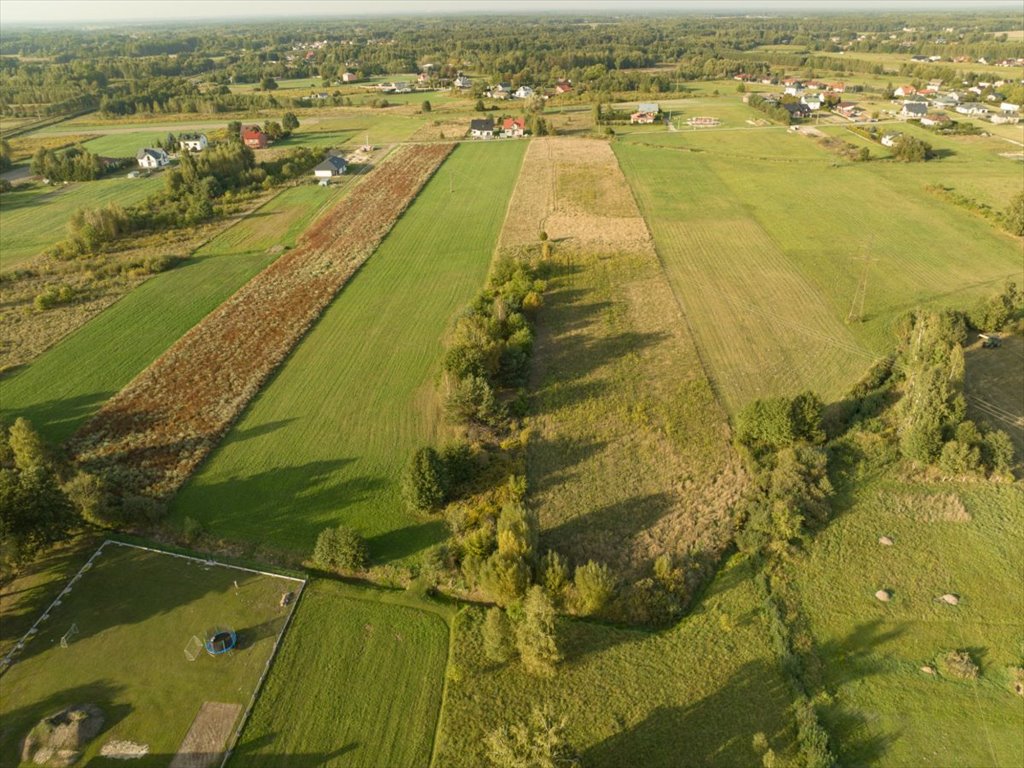
[[[1019,10],[1021,0],[0,0],[0,25],[551,11]]]

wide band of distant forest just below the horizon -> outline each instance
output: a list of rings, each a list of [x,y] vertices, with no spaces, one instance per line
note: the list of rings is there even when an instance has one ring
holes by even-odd
[[[1022,42],[1000,31],[1013,14],[843,14],[611,17],[596,15],[273,22],[224,27],[117,30],[14,28],[0,41],[0,110],[48,117],[100,110],[219,113],[281,105],[270,92],[231,93],[228,86],[346,71],[362,77],[459,71],[513,86],[573,82],[578,93],[664,92],[685,80],[785,68],[883,74],[879,63],[840,53],[902,53],[905,78],[979,76],[910,61],[911,53],[989,61],[1022,55]],[[761,46],[785,46],[765,50]],[[482,83],[478,84],[482,87]],[[285,100],[285,99],[282,99]]]

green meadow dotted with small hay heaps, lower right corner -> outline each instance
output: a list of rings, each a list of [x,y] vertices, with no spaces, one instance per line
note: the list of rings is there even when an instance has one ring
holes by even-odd
[[[1024,762],[1024,699],[1008,670],[1024,660],[1022,505],[1019,486],[880,478],[843,498],[794,563],[843,765]],[[947,593],[961,603],[936,601]],[[921,671],[954,649],[980,665],[977,681]]]

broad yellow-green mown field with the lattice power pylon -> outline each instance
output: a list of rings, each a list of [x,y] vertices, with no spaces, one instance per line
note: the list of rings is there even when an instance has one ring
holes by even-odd
[[[807,388],[837,397],[900,312],[1024,280],[1019,240],[902,166],[841,161],[782,129],[634,138],[615,153],[730,411]]]

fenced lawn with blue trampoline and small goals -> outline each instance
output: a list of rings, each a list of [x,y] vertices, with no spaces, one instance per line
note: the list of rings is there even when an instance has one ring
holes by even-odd
[[[4,765],[15,764],[10,756],[41,718],[70,705],[96,705],[105,717],[84,753],[90,765],[118,765],[97,756],[101,744],[122,739],[150,748],[134,765],[166,766],[206,701],[236,706],[237,724],[291,610],[282,595],[298,587],[108,544],[0,677]],[[63,648],[73,624],[79,634]],[[188,662],[189,639],[218,625],[237,632],[238,647]]]

